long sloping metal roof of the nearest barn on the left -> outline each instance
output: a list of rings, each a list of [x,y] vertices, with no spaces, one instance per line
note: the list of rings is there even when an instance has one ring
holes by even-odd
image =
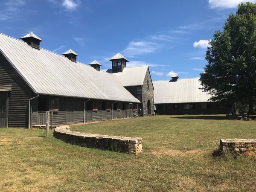
[[[119,79],[0,33],[0,52],[38,94],[140,102]]]

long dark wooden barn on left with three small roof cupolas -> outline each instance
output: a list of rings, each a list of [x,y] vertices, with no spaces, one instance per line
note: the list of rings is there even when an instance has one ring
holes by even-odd
[[[32,32],[20,39],[0,34],[0,127],[44,125],[46,111],[53,125],[137,115],[140,101],[97,61],[43,49]]]

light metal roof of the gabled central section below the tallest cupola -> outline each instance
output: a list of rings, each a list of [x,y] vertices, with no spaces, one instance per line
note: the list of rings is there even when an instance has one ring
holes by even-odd
[[[125,67],[122,72],[112,73],[112,70],[103,70],[118,77],[123,86],[143,85],[148,66]]]

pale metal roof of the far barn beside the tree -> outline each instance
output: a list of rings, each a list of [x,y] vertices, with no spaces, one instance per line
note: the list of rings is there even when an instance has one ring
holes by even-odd
[[[199,78],[178,81],[153,81],[154,103],[209,102],[211,95],[203,92]]]

